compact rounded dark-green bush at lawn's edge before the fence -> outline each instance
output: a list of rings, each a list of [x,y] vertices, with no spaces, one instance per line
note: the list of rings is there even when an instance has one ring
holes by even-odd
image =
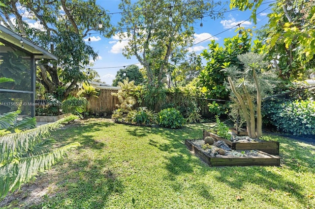
[[[161,127],[180,129],[184,124],[183,115],[175,108],[162,109],[158,113],[158,125]]]

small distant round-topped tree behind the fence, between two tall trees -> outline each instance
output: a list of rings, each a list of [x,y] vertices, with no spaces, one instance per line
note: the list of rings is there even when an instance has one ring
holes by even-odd
[[[116,78],[113,80],[113,86],[117,86],[119,82],[123,82],[126,78],[129,81],[134,81],[134,85],[139,85],[143,82],[143,75],[136,65],[129,65],[126,69],[120,69]]]

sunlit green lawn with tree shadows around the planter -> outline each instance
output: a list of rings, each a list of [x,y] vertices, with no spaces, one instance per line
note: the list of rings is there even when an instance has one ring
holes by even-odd
[[[32,182],[45,182],[48,192],[27,208],[315,208],[314,145],[270,136],[280,142],[280,167],[209,167],[184,144],[202,138],[207,127],[170,130],[89,119],[54,131],[59,145],[81,146]],[[6,208],[21,206],[23,199]]]

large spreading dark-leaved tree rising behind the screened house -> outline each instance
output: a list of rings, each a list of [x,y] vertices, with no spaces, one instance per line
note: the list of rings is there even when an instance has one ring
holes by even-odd
[[[94,70],[85,69],[90,64],[90,59],[97,58],[97,53],[85,44],[83,38],[93,31],[110,37],[112,26],[109,23],[110,17],[103,8],[96,5],[95,0],[2,2],[7,6],[0,4],[0,21],[6,27],[59,57],[58,61],[50,61],[51,65],[47,65],[47,60],[40,61],[37,65],[36,80],[45,87],[47,93],[54,93],[57,88],[64,87],[63,94],[66,98],[78,82],[97,76]],[[26,11],[30,15],[24,15]],[[27,20],[40,23],[41,29],[31,28]],[[99,21],[103,25],[101,28],[98,27]]]

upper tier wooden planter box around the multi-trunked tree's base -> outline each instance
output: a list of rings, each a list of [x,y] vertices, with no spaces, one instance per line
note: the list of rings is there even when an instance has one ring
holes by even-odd
[[[260,150],[271,155],[279,155],[279,142],[276,141],[231,142],[230,140],[221,138],[215,133],[204,130],[203,138],[206,136],[212,136],[216,141],[224,141],[232,150]]]

